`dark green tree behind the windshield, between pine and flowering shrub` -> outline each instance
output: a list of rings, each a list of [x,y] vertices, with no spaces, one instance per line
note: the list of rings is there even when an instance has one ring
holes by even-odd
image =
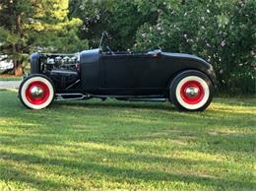
[[[152,7],[144,9],[148,1],[140,0],[72,0],[70,16],[83,21],[80,30],[82,39],[89,39],[91,47],[96,47],[101,32],[108,32],[107,44],[113,50],[132,48],[136,40],[137,30],[145,23],[155,24],[158,13],[155,0]]]

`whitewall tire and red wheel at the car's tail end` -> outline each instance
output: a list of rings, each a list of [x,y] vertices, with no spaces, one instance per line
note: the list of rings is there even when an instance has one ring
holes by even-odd
[[[188,70],[173,79],[169,91],[170,100],[177,108],[203,111],[213,99],[214,87],[204,73]]]

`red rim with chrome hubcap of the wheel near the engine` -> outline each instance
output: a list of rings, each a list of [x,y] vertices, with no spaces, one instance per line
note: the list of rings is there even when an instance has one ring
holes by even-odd
[[[50,96],[50,91],[46,84],[35,81],[28,86],[25,94],[29,102],[39,105],[47,101]]]

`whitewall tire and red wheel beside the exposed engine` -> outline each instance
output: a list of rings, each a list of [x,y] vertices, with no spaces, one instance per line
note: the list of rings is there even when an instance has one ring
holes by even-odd
[[[26,78],[19,89],[19,97],[28,108],[41,109],[48,106],[55,92],[53,83],[44,75],[35,74]]]

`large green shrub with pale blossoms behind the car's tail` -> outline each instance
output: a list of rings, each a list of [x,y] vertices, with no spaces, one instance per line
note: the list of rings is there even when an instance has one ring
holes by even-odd
[[[163,2],[157,24],[138,30],[135,48],[197,54],[213,64],[221,92],[255,93],[255,10],[254,0]]]

